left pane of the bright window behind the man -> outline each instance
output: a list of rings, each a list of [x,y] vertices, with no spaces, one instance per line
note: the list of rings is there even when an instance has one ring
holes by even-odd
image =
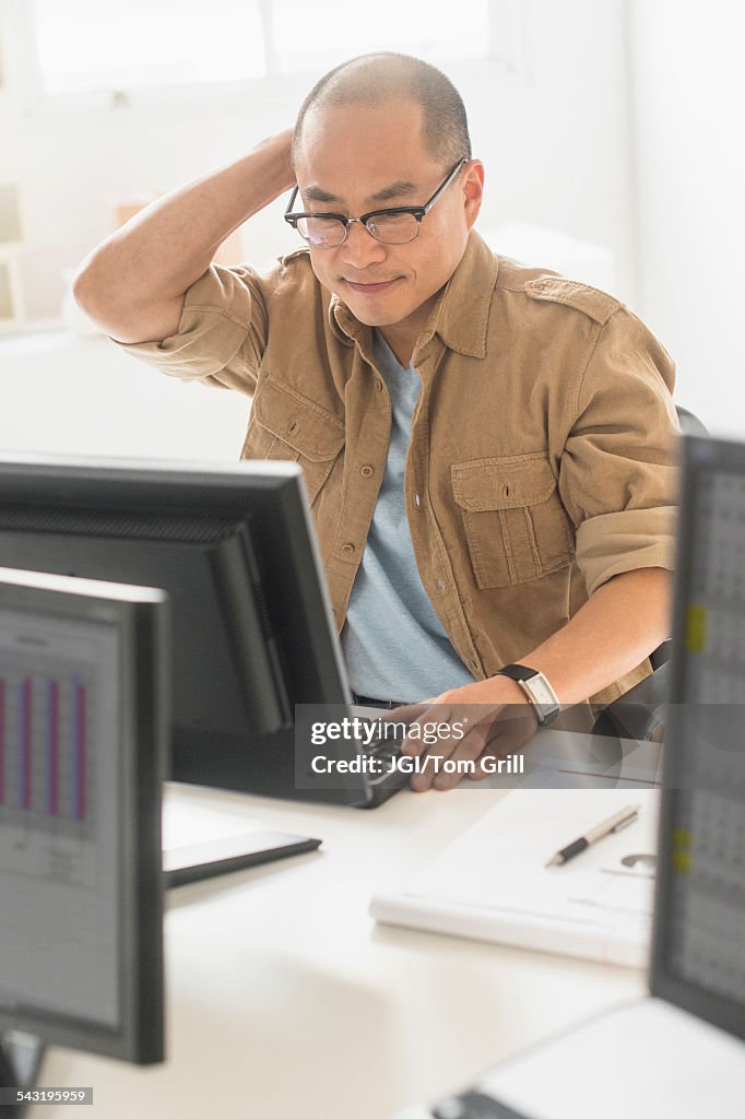
[[[34,9],[51,95],[266,73],[258,0],[34,0]]]

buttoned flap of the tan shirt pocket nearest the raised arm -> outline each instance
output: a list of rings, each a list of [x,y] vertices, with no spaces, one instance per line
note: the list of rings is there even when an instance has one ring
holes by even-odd
[[[310,397],[276,382],[265,382],[254,398],[256,423],[309,459],[336,459],[345,443],[343,425]]]

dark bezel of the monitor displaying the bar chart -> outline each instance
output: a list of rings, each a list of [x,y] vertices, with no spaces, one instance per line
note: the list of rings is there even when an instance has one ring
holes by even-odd
[[[115,628],[121,774],[119,1028],[57,1014],[0,1009],[0,1035],[20,1032],[136,1064],[164,1060],[162,787],[170,728],[168,598],[157,589],[0,568],[3,608]],[[124,918],[126,918],[124,920]]]

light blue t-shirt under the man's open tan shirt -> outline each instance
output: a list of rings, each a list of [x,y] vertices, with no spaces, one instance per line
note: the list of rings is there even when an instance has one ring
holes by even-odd
[[[358,695],[414,702],[472,684],[422,585],[404,502],[412,415],[422,388],[375,331],[375,356],[393,417],[388,460],[375,516],[352,586],[341,642]]]

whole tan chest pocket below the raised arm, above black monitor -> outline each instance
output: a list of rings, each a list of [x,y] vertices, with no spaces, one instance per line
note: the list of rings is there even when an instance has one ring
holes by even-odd
[[[343,444],[339,420],[296,389],[265,382],[254,397],[242,458],[300,463],[312,505]]]

